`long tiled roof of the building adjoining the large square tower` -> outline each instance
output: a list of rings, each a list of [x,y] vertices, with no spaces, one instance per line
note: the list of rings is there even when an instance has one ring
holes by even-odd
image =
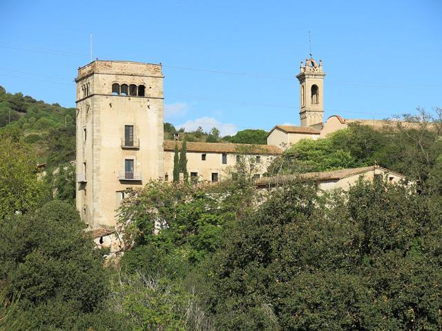
[[[164,150],[173,151],[175,143],[181,149],[180,141],[164,141]],[[195,143],[187,141],[186,149],[188,152],[208,152],[208,153],[236,153],[236,154],[282,154],[282,150],[273,145],[250,145],[247,143]]]

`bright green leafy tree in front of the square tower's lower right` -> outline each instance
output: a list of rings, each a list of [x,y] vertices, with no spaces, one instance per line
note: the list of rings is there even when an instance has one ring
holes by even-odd
[[[121,208],[126,242],[135,249],[124,254],[131,270],[183,277],[215,251],[224,218],[216,193],[204,185],[153,181],[136,191]],[[128,224],[127,224],[128,223]]]

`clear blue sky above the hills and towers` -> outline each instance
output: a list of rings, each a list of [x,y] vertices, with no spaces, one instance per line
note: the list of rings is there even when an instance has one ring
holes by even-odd
[[[93,57],[163,63],[166,121],[299,125],[301,60],[323,59],[325,118],[442,106],[442,1],[0,0],[0,85],[75,106]]]

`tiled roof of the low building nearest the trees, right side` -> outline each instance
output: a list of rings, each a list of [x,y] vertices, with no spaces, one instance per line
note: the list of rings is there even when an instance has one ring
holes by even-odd
[[[331,171],[323,171],[323,172],[307,172],[305,174],[285,174],[276,177],[262,177],[256,181],[256,185],[264,186],[269,184],[278,184],[278,183],[287,183],[291,181],[296,181],[297,179],[310,179],[313,181],[327,181],[332,179],[343,179],[347,177],[356,176],[358,174],[364,174],[365,172],[374,171],[374,170],[382,170],[384,172],[395,174],[398,177],[402,177],[405,179],[403,174],[399,174],[397,172],[393,172],[391,170],[382,168],[378,165],[371,165],[369,167],[362,168],[349,168],[349,169],[340,169],[340,170],[331,170]]]

